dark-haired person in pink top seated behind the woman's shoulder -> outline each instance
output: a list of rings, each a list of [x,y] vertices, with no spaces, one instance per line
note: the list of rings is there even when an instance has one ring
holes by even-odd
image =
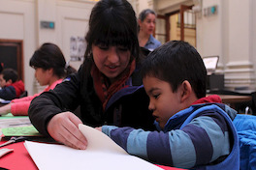
[[[66,65],[65,58],[60,48],[53,43],[44,43],[35,51],[29,62],[35,69],[35,77],[41,86],[47,86],[43,92],[59,84],[63,78],[75,70]],[[13,115],[27,115],[32,99],[40,94],[21,99],[13,99],[9,104],[0,107],[0,115],[12,113]]]

